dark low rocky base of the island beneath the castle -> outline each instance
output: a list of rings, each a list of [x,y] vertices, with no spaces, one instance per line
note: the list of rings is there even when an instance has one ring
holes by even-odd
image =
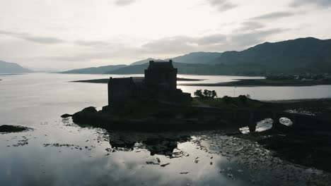
[[[192,111],[195,109],[192,108]],[[198,111],[197,111],[198,112]],[[164,114],[164,116],[162,116]],[[126,118],[118,114],[112,114],[110,111],[97,111],[95,107],[90,106],[82,111],[71,114],[64,114],[62,118],[72,117],[74,123],[78,125],[91,125],[105,130],[125,130],[141,132],[165,132],[177,130],[216,130],[225,128],[236,128],[232,124],[226,123],[219,118],[191,118],[179,114],[167,118],[168,113],[159,113],[159,116],[147,118]]]

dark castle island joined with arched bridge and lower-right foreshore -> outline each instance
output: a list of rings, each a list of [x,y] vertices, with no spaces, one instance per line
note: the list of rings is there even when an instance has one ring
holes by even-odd
[[[330,99],[264,102],[243,95],[215,98],[207,94],[211,91],[199,92],[192,98],[177,89],[172,61],[151,61],[144,78],[110,77],[108,106],[101,111],[90,106],[62,118],[72,117],[78,125],[108,131],[228,131],[228,135],[258,142],[294,163],[331,170],[325,164],[331,156]],[[268,118],[272,120],[270,130],[255,132],[257,123]],[[290,125],[284,125],[283,118]],[[250,135],[239,132],[245,127]],[[120,147],[122,143],[118,142]],[[132,142],[123,145],[130,147]]]

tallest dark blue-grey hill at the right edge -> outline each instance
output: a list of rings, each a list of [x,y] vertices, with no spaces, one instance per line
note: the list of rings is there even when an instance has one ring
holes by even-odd
[[[264,66],[265,70],[331,70],[331,39],[313,37],[258,44],[244,51],[226,51],[211,63]]]

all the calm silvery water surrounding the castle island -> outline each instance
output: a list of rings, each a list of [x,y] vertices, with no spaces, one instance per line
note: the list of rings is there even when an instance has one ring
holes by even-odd
[[[0,125],[33,130],[0,134],[0,185],[323,185],[330,181],[323,171],[281,161],[248,140],[226,137],[225,131],[106,132],[59,117],[87,106],[100,109],[108,102],[105,84],[69,81],[108,76],[1,75]],[[209,82],[243,78],[180,76]],[[231,87],[207,89],[217,89],[221,96],[233,94]],[[264,91],[270,94],[263,96]],[[314,92],[318,92],[315,97],[331,97],[330,86],[236,89],[236,95],[255,99],[314,98]],[[183,137],[187,140],[180,140]]]

